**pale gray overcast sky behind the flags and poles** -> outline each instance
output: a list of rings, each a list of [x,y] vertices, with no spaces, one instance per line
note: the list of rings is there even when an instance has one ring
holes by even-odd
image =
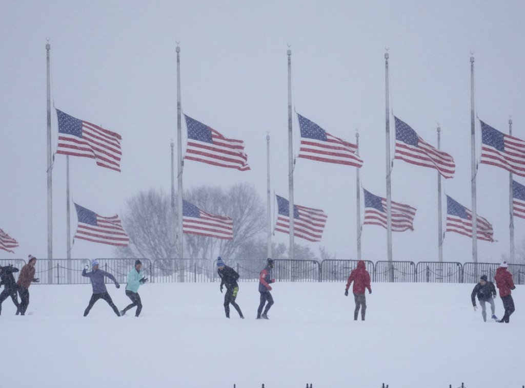
[[[122,214],[140,190],[170,191],[176,140],[176,55],[181,41],[183,112],[243,139],[251,171],[186,161],[184,186],[254,184],[266,201],[266,132],[272,192],[288,197],[287,44],[297,112],[355,142],[360,130],[362,185],[385,188],[384,52],[390,48],[391,109],[425,141],[456,161],[448,195],[470,201],[470,51],[475,52],[476,114],[525,138],[524,1],[8,1],[0,2],[0,228],[16,255],[47,255],[46,37],[54,105],[122,135],[122,173],[70,158],[71,195],[100,215]],[[56,114],[53,148],[56,149]],[[393,117],[391,132],[394,134]],[[296,154],[299,144],[294,117]],[[478,159],[479,122],[476,123]],[[392,147],[393,156],[393,147]],[[392,199],[417,209],[414,232],[393,234],[394,260],[437,260],[436,172],[396,160]],[[524,178],[516,178],[525,184]],[[508,173],[480,165],[478,214],[498,242],[478,242],[479,261],[509,250]],[[65,156],[53,170],[54,257],[66,257]],[[324,246],[356,255],[355,168],[298,159],[295,203],[321,208]],[[444,202],[446,206],[446,202]],[[204,209],[205,210],[205,209]],[[446,211],[446,209],[445,209]],[[273,213],[273,211],[272,211]],[[76,230],[72,213],[71,235]],[[516,219],[516,241],[525,220]],[[274,241],[288,243],[276,233]],[[386,259],[386,231],[365,225],[363,258]],[[447,233],[445,261],[471,261],[471,240]],[[108,245],[77,240],[72,257],[111,256]]]

